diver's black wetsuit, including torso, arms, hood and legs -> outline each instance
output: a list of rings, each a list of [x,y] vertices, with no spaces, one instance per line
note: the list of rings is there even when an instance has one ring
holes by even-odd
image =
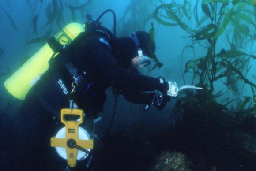
[[[79,43],[73,56],[76,67],[90,75],[90,86],[78,98],[78,107],[89,115],[102,110],[106,100],[105,90],[110,86],[119,86],[124,97],[136,104],[150,104],[155,93],[143,91],[160,90],[167,92],[168,84],[160,84],[158,78],[151,78],[129,70],[131,59],[137,56],[136,47],[129,37],[117,39],[122,65],[113,57],[112,47],[101,36],[90,36]],[[20,170],[45,170],[66,164],[50,147],[50,138],[56,135],[63,125],[56,125],[53,115],[60,115],[61,108],[69,108],[63,100],[59,85],[51,82],[50,73],[37,82],[28,93],[16,121],[11,145],[11,156],[5,157],[5,166]],[[50,101],[50,102],[49,102]],[[15,161],[14,161],[15,160]]]

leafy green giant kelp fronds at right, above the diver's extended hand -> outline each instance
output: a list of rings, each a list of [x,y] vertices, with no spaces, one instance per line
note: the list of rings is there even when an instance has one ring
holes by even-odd
[[[204,26],[199,29],[192,27],[191,17],[188,15],[189,12],[187,8],[184,8],[189,4],[187,0],[184,1],[183,5],[176,4],[174,0],[173,3],[170,4],[160,4],[152,14],[162,25],[180,26],[181,29],[191,34],[191,36],[187,37],[191,37],[192,42],[190,45],[186,46],[184,50],[186,48],[192,48],[195,53],[196,44],[206,48],[207,54],[203,57],[187,61],[184,71],[185,73],[191,72],[193,74],[192,84],[205,86],[211,96],[214,96],[213,92],[215,87],[213,83],[224,77],[227,78],[225,85],[227,85],[227,88],[231,89],[233,93],[237,93],[235,89],[238,89],[238,87],[236,86],[239,81],[242,81],[251,87],[252,94],[255,95],[256,85],[246,78],[244,71],[247,73],[250,70],[252,65],[248,66],[248,63],[250,60],[255,60],[256,56],[251,54],[252,47],[251,52],[242,52],[243,44],[251,44],[251,46],[253,46],[253,42],[256,39],[254,35],[255,22],[253,22],[253,20],[255,20],[255,11],[251,10],[251,8],[255,8],[255,5],[252,3],[253,1],[249,0],[233,0],[230,2],[228,0],[203,0],[201,2],[202,11],[209,18],[206,21],[210,23],[205,23],[206,21],[200,23],[200,25],[204,24]],[[239,8],[238,4],[240,4]],[[243,4],[243,7],[248,6],[248,9],[241,10],[241,4]],[[194,7],[194,9],[196,8],[197,7]],[[159,9],[164,9],[166,15],[159,16]],[[245,13],[254,14],[253,19]],[[194,13],[194,15],[196,15],[196,13]],[[195,16],[195,18],[197,21],[198,17]],[[181,19],[187,22],[182,22]],[[234,25],[233,22],[236,23],[232,28],[234,31],[232,41],[230,42],[227,38],[230,43],[230,49],[222,49],[220,52],[216,52],[217,39],[224,34],[224,31],[228,30],[227,26],[230,27],[230,22],[232,23],[231,26]],[[245,26],[245,24],[247,26]],[[254,30],[250,30],[250,28]],[[204,45],[202,45],[203,43]],[[240,49],[237,47],[240,47]],[[233,89],[231,87],[233,87]]]

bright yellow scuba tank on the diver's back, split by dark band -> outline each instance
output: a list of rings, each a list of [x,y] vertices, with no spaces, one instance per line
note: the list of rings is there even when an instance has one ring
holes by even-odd
[[[53,38],[61,46],[69,45],[79,33],[84,31],[85,25],[70,23]],[[24,100],[31,87],[40,79],[41,75],[48,70],[48,62],[53,54],[53,48],[50,47],[49,43],[46,43],[4,82],[4,86],[8,92],[14,97]]]

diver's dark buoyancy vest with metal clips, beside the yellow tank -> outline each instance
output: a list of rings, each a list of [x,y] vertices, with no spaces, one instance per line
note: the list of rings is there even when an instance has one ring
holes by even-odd
[[[86,31],[79,33],[70,45],[60,46],[54,38],[48,43],[54,49],[53,56],[55,53],[58,55],[49,60],[49,69],[41,76],[34,93],[41,104],[56,117],[59,116],[61,108],[77,108],[83,97],[90,98],[95,93],[90,88],[90,72],[80,70],[73,60],[73,50],[81,41],[91,35],[100,35],[110,44],[113,56],[118,56],[115,48],[112,48],[115,35],[90,15],[87,15],[87,19],[89,21],[85,23]]]

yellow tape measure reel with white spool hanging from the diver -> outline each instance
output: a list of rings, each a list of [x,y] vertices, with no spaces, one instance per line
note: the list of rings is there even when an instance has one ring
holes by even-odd
[[[83,123],[83,110],[61,109],[61,122],[65,127],[51,138],[51,146],[56,147],[58,154],[68,160],[70,167],[75,167],[77,160],[89,156],[94,140],[90,139],[86,130],[79,127]]]

